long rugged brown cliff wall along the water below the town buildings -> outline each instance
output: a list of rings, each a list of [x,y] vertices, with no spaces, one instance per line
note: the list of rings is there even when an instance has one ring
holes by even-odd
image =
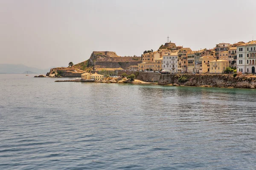
[[[157,82],[158,85],[186,85],[224,88],[256,88],[256,76],[242,74],[156,74],[148,72],[118,72],[118,75],[134,74],[136,79]]]

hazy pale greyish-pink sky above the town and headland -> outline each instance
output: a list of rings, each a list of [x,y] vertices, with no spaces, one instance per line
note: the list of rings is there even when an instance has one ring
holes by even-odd
[[[0,64],[46,69],[93,51],[140,56],[256,39],[256,0],[0,0]]]

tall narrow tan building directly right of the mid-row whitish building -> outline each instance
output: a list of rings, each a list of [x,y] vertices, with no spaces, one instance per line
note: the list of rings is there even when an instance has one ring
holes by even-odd
[[[190,48],[181,48],[178,51],[178,73],[187,72],[187,57],[192,50]]]

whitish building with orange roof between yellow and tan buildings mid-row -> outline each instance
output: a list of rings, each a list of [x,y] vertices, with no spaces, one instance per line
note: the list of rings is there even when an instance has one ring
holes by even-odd
[[[172,53],[163,55],[163,70],[169,70],[173,73],[178,71],[178,51],[172,51]]]

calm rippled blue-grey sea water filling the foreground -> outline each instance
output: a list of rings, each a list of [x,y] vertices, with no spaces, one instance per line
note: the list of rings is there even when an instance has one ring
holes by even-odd
[[[256,90],[55,80],[0,74],[0,170],[256,169]]]

